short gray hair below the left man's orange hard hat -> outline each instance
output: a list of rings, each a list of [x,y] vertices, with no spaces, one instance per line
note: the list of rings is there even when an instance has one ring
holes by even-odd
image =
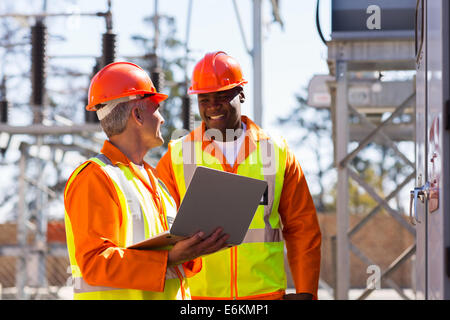
[[[145,110],[147,103],[144,100],[135,99],[121,102],[105,118],[100,120],[100,125],[108,138],[125,131],[133,107],[137,106],[139,110]]]

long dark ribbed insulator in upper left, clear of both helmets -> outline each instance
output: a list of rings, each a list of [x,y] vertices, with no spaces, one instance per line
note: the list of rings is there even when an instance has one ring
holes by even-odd
[[[38,20],[31,27],[31,104],[42,106],[45,97],[47,27]],[[38,115],[38,116],[37,116]],[[35,112],[34,122],[41,122],[42,112]]]

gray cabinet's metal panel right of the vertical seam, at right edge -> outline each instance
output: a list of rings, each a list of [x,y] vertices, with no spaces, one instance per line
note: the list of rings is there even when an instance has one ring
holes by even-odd
[[[448,77],[448,62],[445,67],[443,60],[443,47],[448,46],[448,33],[443,30],[444,2],[427,2],[427,102],[428,102],[428,147],[427,147],[427,180],[431,185],[428,197],[428,298],[445,299],[448,290],[449,279],[446,275],[445,261],[445,234],[448,225],[445,224],[444,197],[439,196],[443,189],[443,180],[448,175],[441,173],[444,165],[442,157],[443,130],[442,115],[444,107],[443,78]],[[447,4],[448,5],[448,4]],[[444,17],[448,19],[448,10]],[[445,35],[445,36],[444,36]],[[444,43],[443,43],[444,42]],[[447,82],[448,83],[448,82]],[[447,168],[445,168],[447,169]],[[444,170],[445,170],[444,169]],[[448,171],[445,170],[445,171]],[[448,173],[448,172],[447,172]],[[432,196],[432,198],[431,198]],[[448,298],[448,297],[447,297]]]

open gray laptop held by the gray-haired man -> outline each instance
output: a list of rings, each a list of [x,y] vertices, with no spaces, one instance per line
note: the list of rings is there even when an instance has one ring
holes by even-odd
[[[128,248],[173,245],[199,231],[207,237],[217,227],[230,235],[228,245],[238,245],[244,240],[266,190],[264,180],[197,166],[170,230]]]

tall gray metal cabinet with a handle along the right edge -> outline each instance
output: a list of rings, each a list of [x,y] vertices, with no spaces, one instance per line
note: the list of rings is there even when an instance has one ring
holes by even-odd
[[[450,3],[419,0],[416,59],[416,297],[450,299]]]

